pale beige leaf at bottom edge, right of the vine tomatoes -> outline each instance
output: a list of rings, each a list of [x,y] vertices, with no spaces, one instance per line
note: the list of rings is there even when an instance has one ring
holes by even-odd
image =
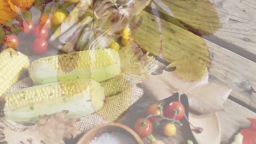
[[[196,116],[193,113],[189,113],[189,121],[203,129],[202,133],[198,134],[192,130],[195,140],[199,144],[220,143],[220,125],[219,119],[216,113],[211,113],[210,115]],[[193,129],[192,127],[190,127]]]

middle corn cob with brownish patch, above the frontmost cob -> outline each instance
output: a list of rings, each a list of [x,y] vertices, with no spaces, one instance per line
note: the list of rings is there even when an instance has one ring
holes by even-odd
[[[112,49],[72,52],[38,59],[29,72],[37,85],[73,79],[101,82],[120,74],[120,58]]]

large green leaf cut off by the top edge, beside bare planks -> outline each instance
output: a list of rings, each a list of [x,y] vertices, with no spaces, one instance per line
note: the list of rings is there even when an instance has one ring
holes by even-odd
[[[166,7],[171,9],[174,16],[190,31],[203,35],[210,35],[222,27],[217,11],[214,8],[214,5],[209,1],[172,0],[162,2]],[[167,17],[170,17],[170,14],[167,13],[167,10],[161,8],[158,10],[161,11],[161,13],[164,13],[163,16],[165,16],[165,20],[169,21]]]

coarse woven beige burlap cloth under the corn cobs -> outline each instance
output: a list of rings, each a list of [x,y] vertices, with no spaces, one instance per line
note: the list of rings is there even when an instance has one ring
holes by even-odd
[[[132,77],[126,77],[126,82],[129,82],[127,88],[124,89],[123,92],[118,93],[116,95],[111,95],[107,97],[106,103],[104,104],[102,110],[92,113],[91,115],[81,117],[80,121],[75,123],[80,129],[80,131],[84,132],[89,130],[96,125],[100,125],[103,123],[113,122],[118,119],[118,117],[126,111],[133,103],[135,103],[139,98],[143,95],[143,90],[136,86],[138,83],[138,79],[132,79]],[[9,89],[5,95],[18,91],[22,88],[32,87],[33,82],[30,77],[26,77],[25,79],[17,82],[13,87]],[[109,83],[107,89],[114,89],[114,83]],[[8,125],[8,127],[12,129],[26,129],[30,127],[30,125],[23,125],[11,122],[5,117],[0,118],[1,123]]]

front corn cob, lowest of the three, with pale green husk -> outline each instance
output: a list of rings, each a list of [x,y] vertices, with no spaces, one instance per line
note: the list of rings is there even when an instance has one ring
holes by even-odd
[[[15,122],[34,122],[39,116],[68,110],[66,118],[102,109],[104,89],[93,80],[56,82],[21,89],[5,97],[4,115]]]

